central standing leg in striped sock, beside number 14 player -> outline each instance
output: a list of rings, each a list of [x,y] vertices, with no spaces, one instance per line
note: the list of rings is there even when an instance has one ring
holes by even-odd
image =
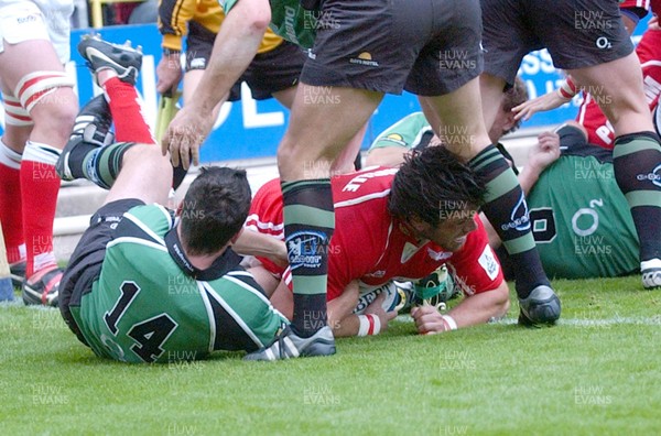
[[[328,98],[313,98],[319,95]],[[330,167],[382,97],[380,92],[322,89],[301,83],[290,126],[278,150],[294,292],[292,331],[286,335],[304,356],[335,352],[333,333],[326,325],[327,248],[335,228]],[[274,349],[280,349],[278,344],[247,358],[272,360]]]

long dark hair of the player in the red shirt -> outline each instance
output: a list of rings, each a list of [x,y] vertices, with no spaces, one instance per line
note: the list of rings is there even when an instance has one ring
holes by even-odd
[[[481,206],[485,194],[485,182],[457,155],[444,146],[429,146],[404,157],[392,181],[388,211],[436,227],[442,217],[456,212],[457,205]]]

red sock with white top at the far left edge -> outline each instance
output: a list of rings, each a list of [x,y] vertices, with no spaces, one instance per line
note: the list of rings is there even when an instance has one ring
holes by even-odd
[[[0,222],[9,263],[24,257],[23,211],[21,210],[21,154],[0,140]]]

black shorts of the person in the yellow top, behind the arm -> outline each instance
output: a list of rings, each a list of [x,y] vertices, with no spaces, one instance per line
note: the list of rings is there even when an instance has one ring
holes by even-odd
[[[191,21],[186,37],[186,72],[205,69],[212,57],[216,34]],[[241,98],[241,83],[246,81],[256,100],[266,100],[299,83],[305,63],[305,52],[290,42],[283,41],[275,48],[254,56],[248,69],[232,86],[228,101]]]

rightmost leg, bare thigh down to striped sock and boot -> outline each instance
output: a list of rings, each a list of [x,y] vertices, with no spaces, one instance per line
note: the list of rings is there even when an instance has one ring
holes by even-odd
[[[615,130],[614,168],[640,240],[642,283],[661,286],[661,145],[642,87],[636,53],[573,69]]]

